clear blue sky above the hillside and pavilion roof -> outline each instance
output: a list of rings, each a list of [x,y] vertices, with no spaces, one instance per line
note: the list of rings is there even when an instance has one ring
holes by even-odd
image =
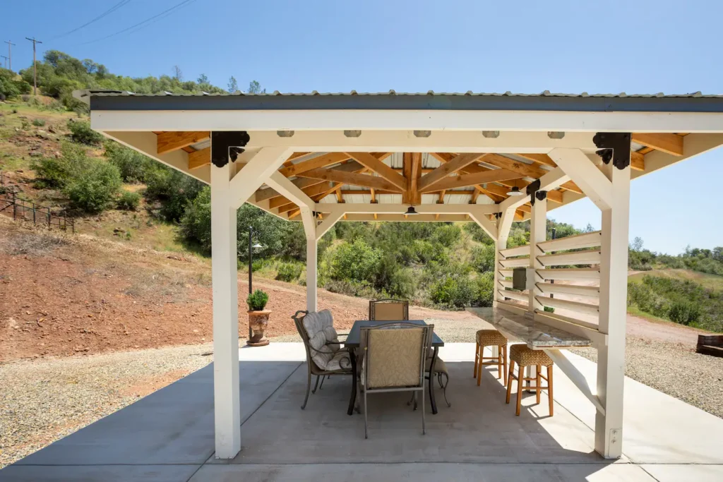
[[[69,35],[119,0],[35,1],[4,6],[2,39],[13,66],[55,48],[130,76],[234,75],[282,92],[723,93],[718,1],[232,1],[130,0]],[[604,5],[602,5],[604,4]],[[0,45],[0,52],[6,44]],[[6,52],[3,55],[7,55]],[[630,238],[654,251],[723,245],[723,150],[633,182]],[[703,182],[705,179],[713,181]],[[654,203],[658,203],[654,205]],[[550,215],[599,228],[584,200]]]

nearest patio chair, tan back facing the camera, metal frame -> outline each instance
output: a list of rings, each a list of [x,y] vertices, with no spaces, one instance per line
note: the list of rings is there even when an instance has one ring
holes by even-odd
[[[367,395],[384,392],[419,392],[422,395],[422,434],[424,418],[424,372],[427,352],[432,345],[434,325],[388,323],[361,328],[360,390],[364,395],[364,439],[369,438]],[[430,380],[431,382],[431,380]]]

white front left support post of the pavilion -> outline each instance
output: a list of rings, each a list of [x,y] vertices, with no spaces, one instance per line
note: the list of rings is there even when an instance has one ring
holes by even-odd
[[[215,457],[231,459],[241,450],[236,207],[230,183],[234,166],[210,169]]]

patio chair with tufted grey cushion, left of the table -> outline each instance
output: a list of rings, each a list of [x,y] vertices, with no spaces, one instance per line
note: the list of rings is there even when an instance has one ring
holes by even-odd
[[[293,317],[296,331],[299,332],[304,348],[307,350],[307,395],[301,410],[307,406],[312,375],[317,376],[312,393],[316,393],[319,378],[325,376],[352,376],[351,356],[348,349],[341,348],[334,329],[331,311],[296,311]]]

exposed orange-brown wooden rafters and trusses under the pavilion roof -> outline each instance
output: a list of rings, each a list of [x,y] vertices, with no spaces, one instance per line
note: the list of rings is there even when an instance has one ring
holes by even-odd
[[[158,153],[163,154],[182,149],[188,152],[189,170],[210,164],[210,147],[195,150],[192,145],[210,138],[209,132],[155,132],[158,136]],[[643,145],[631,152],[630,167],[645,170],[645,156],[654,150],[671,155],[683,155],[685,134],[633,134],[633,142]],[[422,194],[436,194],[437,203],[444,204],[445,194],[469,196],[469,202],[476,203],[480,194],[499,203],[508,197],[508,191],[517,187],[524,192],[534,179],[557,165],[547,154],[518,153],[531,163],[493,153],[450,153],[430,152],[440,161],[437,168],[422,168],[420,152],[404,152],[403,167],[395,169],[385,159],[392,152],[329,152],[308,160],[294,162],[310,152],[294,152],[279,172],[315,202],[335,195],[337,202],[346,202],[345,196],[367,194],[371,202],[377,202],[378,194],[401,194],[403,204],[419,205]],[[544,167],[543,167],[544,166]],[[341,189],[343,186],[350,189]],[[461,188],[465,188],[459,190]],[[457,189],[450,191],[450,189]],[[448,192],[449,191],[449,192]],[[548,191],[547,198],[561,203],[564,191],[582,194],[572,181],[562,184],[559,189]],[[263,188],[254,194],[256,202],[269,201],[269,207],[279,215],[295,218],[299,209],[294,203],[270,188]],[[530,212],[530,205],[523,205],[516,212],[521,219]],[[376,217],[375,217],[376,218]]]

